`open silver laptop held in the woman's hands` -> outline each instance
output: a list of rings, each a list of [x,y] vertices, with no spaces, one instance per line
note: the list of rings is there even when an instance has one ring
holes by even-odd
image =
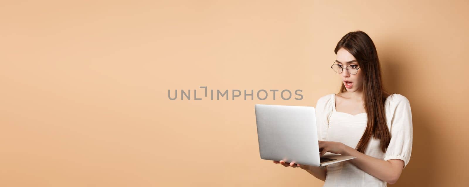
[[[261,159],[325,167],[356,158],[330,152],[319,158],[314,107],[256,104],[254,108]]]

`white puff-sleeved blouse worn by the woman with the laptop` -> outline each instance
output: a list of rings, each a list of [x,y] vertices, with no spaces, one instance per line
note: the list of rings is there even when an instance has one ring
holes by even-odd
[[[379,139],[371,137],[365,154],[383,160],[401,159],[405,168],[412,152],[412,113],[408,99],[400,94],[391,94],[386,98],[385,113],[391,142],[386,152],[382,152]],[[316,121],[319,140],[342,142],[355,149],[365,132],[367,115],[336,111],[335,94],[329,94],[318,99]],[[364,172],[349,161],[343,161],[327,166],[323,187],[386,187],[386,181]]]

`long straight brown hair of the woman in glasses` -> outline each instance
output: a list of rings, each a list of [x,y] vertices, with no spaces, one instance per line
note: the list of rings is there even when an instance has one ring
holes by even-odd
[[[386,125],[384,104],[389,94],[383,88],[381,67],[375,44],[370,36],[358,30],[349,32],[340,39],[334,49],[335,54],[340,48],[344,48],[356,58],[364,74],[363,106],[368,116],[368,122],[362,139],[355,149],[364,153],[371,136],[373,136],[380,140],[381,150],[386,152],[389,141],[391,141],[391,134]],[[339,93],[346,91],[344,84],[341,85]]]

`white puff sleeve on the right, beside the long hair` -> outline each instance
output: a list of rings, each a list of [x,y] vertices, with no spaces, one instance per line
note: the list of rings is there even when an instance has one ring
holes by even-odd
[[[408,99],[400,94],[395,94],[390,101],[391,141],[385,152],[384,160],[401,159],[405,168],[410,160],[412,152],[412,112]]]

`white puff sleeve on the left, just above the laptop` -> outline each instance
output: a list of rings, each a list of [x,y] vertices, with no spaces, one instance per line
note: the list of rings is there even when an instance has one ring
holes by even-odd
[[[327,130],[329,129],[329,117],[332,113],[331,99],[333,95],[323,96],[316,103],[316,127],[318,129],[318,140],[327,141]]]

